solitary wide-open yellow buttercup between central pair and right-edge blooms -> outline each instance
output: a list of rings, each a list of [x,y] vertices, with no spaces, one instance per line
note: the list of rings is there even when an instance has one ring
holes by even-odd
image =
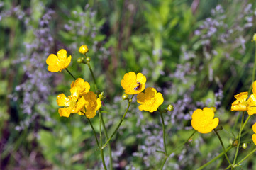
[[[192,114],[192,127],[201,132],[208,133],[218,126],[218,118],[213,118],[214,112],[211,108],[196,109]]]

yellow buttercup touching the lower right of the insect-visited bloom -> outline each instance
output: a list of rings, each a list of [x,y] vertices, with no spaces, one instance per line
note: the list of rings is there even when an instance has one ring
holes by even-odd
[[[162,98],[162,94],[157,93],[154,88],[148,87],[145,89],[145,94],[138,94],[137,102],[140,103],[140,111],[153,112],[157,111],[157,108],[164,102],[164,98]]]

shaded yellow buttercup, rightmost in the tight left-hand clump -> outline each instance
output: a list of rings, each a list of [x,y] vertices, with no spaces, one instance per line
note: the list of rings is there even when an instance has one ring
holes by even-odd
[[[87,118],[94,118],[96,115],[96,111],[101,108],[101,100],[99,98],[96,98],[96,94],[94,92],[89,91],[87,94],[84,94],[84,100],[85,100],[85,109],[83,108],[81,112],[79,112],[79,115],[85,115]]]

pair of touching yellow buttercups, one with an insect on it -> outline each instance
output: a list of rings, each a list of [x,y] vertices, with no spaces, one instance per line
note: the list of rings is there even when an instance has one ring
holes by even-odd
[[[156,89],[148,87],[145,89],[146,77],[142,73],[128,72],[121,80],[121,86],[126,94],[138,94],[137,102],[140,104],[140,111],[157,111],[157,108],[162,105],[164,98]],[[143,90],[145,89],[145,93]]]

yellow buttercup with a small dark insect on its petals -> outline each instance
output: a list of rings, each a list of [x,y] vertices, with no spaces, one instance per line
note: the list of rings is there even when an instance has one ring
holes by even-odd
[[[126,94],[140,94],[145,89],[146,77],[142,73],[128,72],[121,80],[121,86]]]

